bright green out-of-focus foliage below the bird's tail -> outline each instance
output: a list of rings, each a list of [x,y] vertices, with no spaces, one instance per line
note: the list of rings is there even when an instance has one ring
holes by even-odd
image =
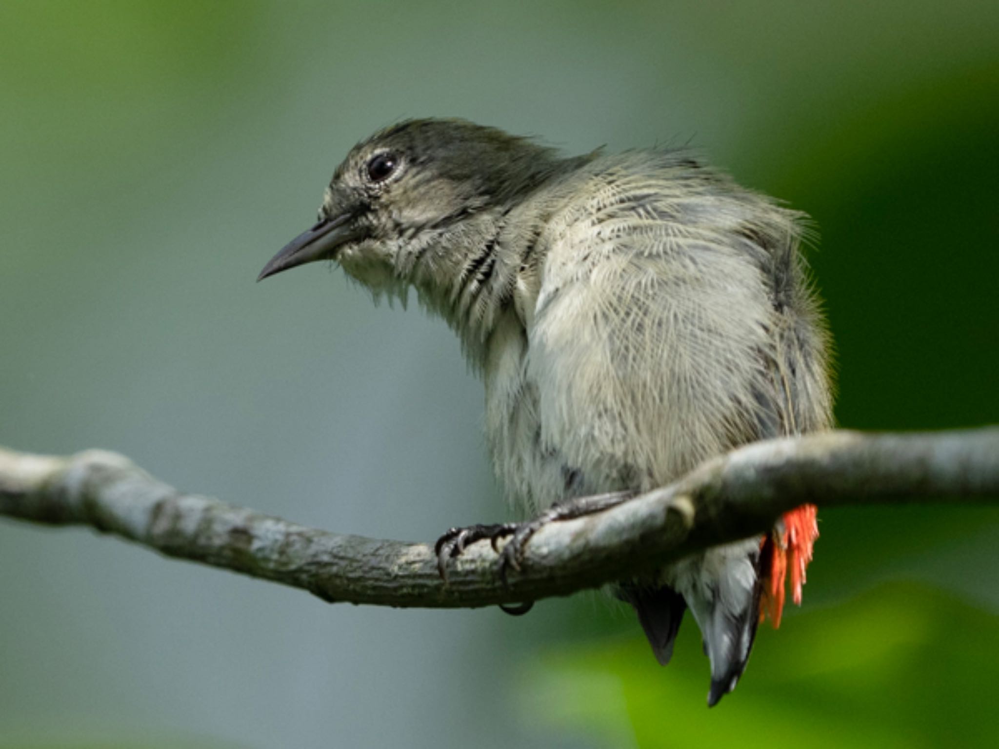
[[[689,623],[680,638],[665,671],[636,639],[552,648],[523,673],[522,709],[641,749],[994,746],[999,627],[952,595],[880,586],[761,627],[742,683],[711,710]]]

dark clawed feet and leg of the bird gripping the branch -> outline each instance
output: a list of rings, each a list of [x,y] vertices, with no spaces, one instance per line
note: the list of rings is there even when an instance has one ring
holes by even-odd
[[[602,512],[634,496],[633,491],[613,491],[607,494],[579,496],[556,502],[536,517],[523,522],[503,522],[490,525],[470,525],[466,528],[451,528],[438,538],[434,551],[438,557],[438,570],[441,577],[448,579],[448,561],[461,555],[465,547],[476,541],[489,539],[493,550],[500,554],[500,578],[506,582],[509,569],[520,570],[524,547],[530,537],[549,522],[571,520],[576,517]],[[500,539],[509,537],[500,549]],[[507,613],[524,613],[525,610],[507,610]]]

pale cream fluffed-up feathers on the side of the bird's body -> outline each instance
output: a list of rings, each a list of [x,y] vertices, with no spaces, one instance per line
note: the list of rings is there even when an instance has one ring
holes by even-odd
[[[528,330],[542,442],[591,487],[645,488],[783,430],[773,248],[794,215],[686,162],[585,194],[549,229]]]

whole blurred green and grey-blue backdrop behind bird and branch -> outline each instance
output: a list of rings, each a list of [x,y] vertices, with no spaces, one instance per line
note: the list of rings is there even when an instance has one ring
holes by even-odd
[[[336,269],[254,279],[402,117],[692,142],[807,211],[840,424],[999,421],[999,5],[4,2],[0,443],[429,540],[503,516],[481,385]],[[0,522],[0,746],[994,746],[999,510],[822,513],[805,603],[711,711],[595,594],[329,607]]]

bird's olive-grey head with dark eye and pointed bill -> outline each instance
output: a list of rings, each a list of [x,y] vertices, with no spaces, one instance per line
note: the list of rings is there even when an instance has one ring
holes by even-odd
[[[281,250],[265,279],[335,260],[376,292],[405,285],[425,253],[440,269],[492,217],[534,190],[560,163],[551,149],[464,120],[410,120],[355,146],[337,167],[315,226]]]

